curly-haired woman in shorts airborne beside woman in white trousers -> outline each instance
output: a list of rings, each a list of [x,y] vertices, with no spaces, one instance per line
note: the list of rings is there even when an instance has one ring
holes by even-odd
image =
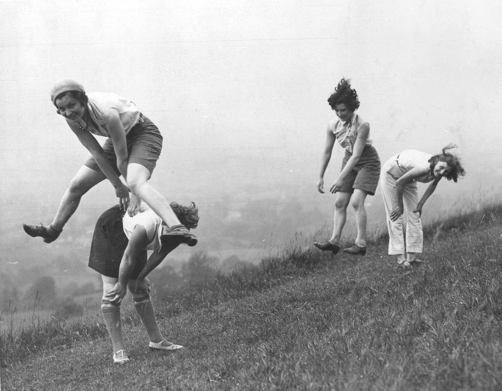
[[[347,206],[352,201],[355,212],[357,237],[354,244],[343,251],[353,255],[366,253],[366,196],[374,195],[380,176],[380,158],[369,138],[369,123],[355,111],[359,108],[359,98],[350,80],[341,79],[335,92],[328,98],[336,117],[329,123],[326,144],[321,156],[321,169],[317,190],[324,193],[324,172],[331,159],[335,141],[345,148],[342,169],[329,191],[336,193],[333,233],[329,240],[314,242],[325,251],[336,254],[340,250],[340,238],[347,219]]]

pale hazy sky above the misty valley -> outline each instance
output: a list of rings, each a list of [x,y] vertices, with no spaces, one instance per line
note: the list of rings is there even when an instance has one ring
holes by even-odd
[[[170,199],[208,208],[222,194],[235,204],[267,194],[330,209],[315,182],[334,115],[326,99],[342,76],[382,161],[455,142],[469,174],[455,186],[486,197],[502,177],[501,8],[495,0],[0,2],[0,213],[22,235],[21,222],[50,222],[88,156],[49,99],[63,77],[128,97],[154,120],[164,149],[152,182]],[[326,183],[342,155],[336,146]],[[99,186],[87,202],[104,210],[114,193]]]

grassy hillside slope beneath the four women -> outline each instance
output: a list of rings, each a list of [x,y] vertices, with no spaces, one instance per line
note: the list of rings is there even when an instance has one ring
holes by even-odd
[[[411,269],[386,238],[364,257],[293,243],[157,303],[180,352],[150,351],[124,314],[124,366],[102,323],[3,330],[2,389],[500,389],[501,234],[495,209],[430,227],[429,263]]]

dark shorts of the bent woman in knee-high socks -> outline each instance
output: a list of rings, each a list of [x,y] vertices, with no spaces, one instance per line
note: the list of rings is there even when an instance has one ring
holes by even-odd
[[[99,216],[94,228],[88,266],[103,276],[118,278],[120,261],[129,242],[122,228],[122,215],[115,205]],[[138,278],[146,263],[147,250],[143,250],[136,257],[131,280]]]

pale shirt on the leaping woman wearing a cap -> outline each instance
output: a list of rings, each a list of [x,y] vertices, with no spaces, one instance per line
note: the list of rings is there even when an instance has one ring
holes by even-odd
[[[92,123],[88,125],[88,131],[94,135],[110,137],[105,126],[107,122],[106,112],[110,108],[118,111],[118,116],[120,117],[124,131],[126,131],[126,135],[139,121],[140,110],[129,99],[107,92],[90,92],[87,94],[87,97],[89,98],[87,102],[89,115],[98,125],[98,128]]]

